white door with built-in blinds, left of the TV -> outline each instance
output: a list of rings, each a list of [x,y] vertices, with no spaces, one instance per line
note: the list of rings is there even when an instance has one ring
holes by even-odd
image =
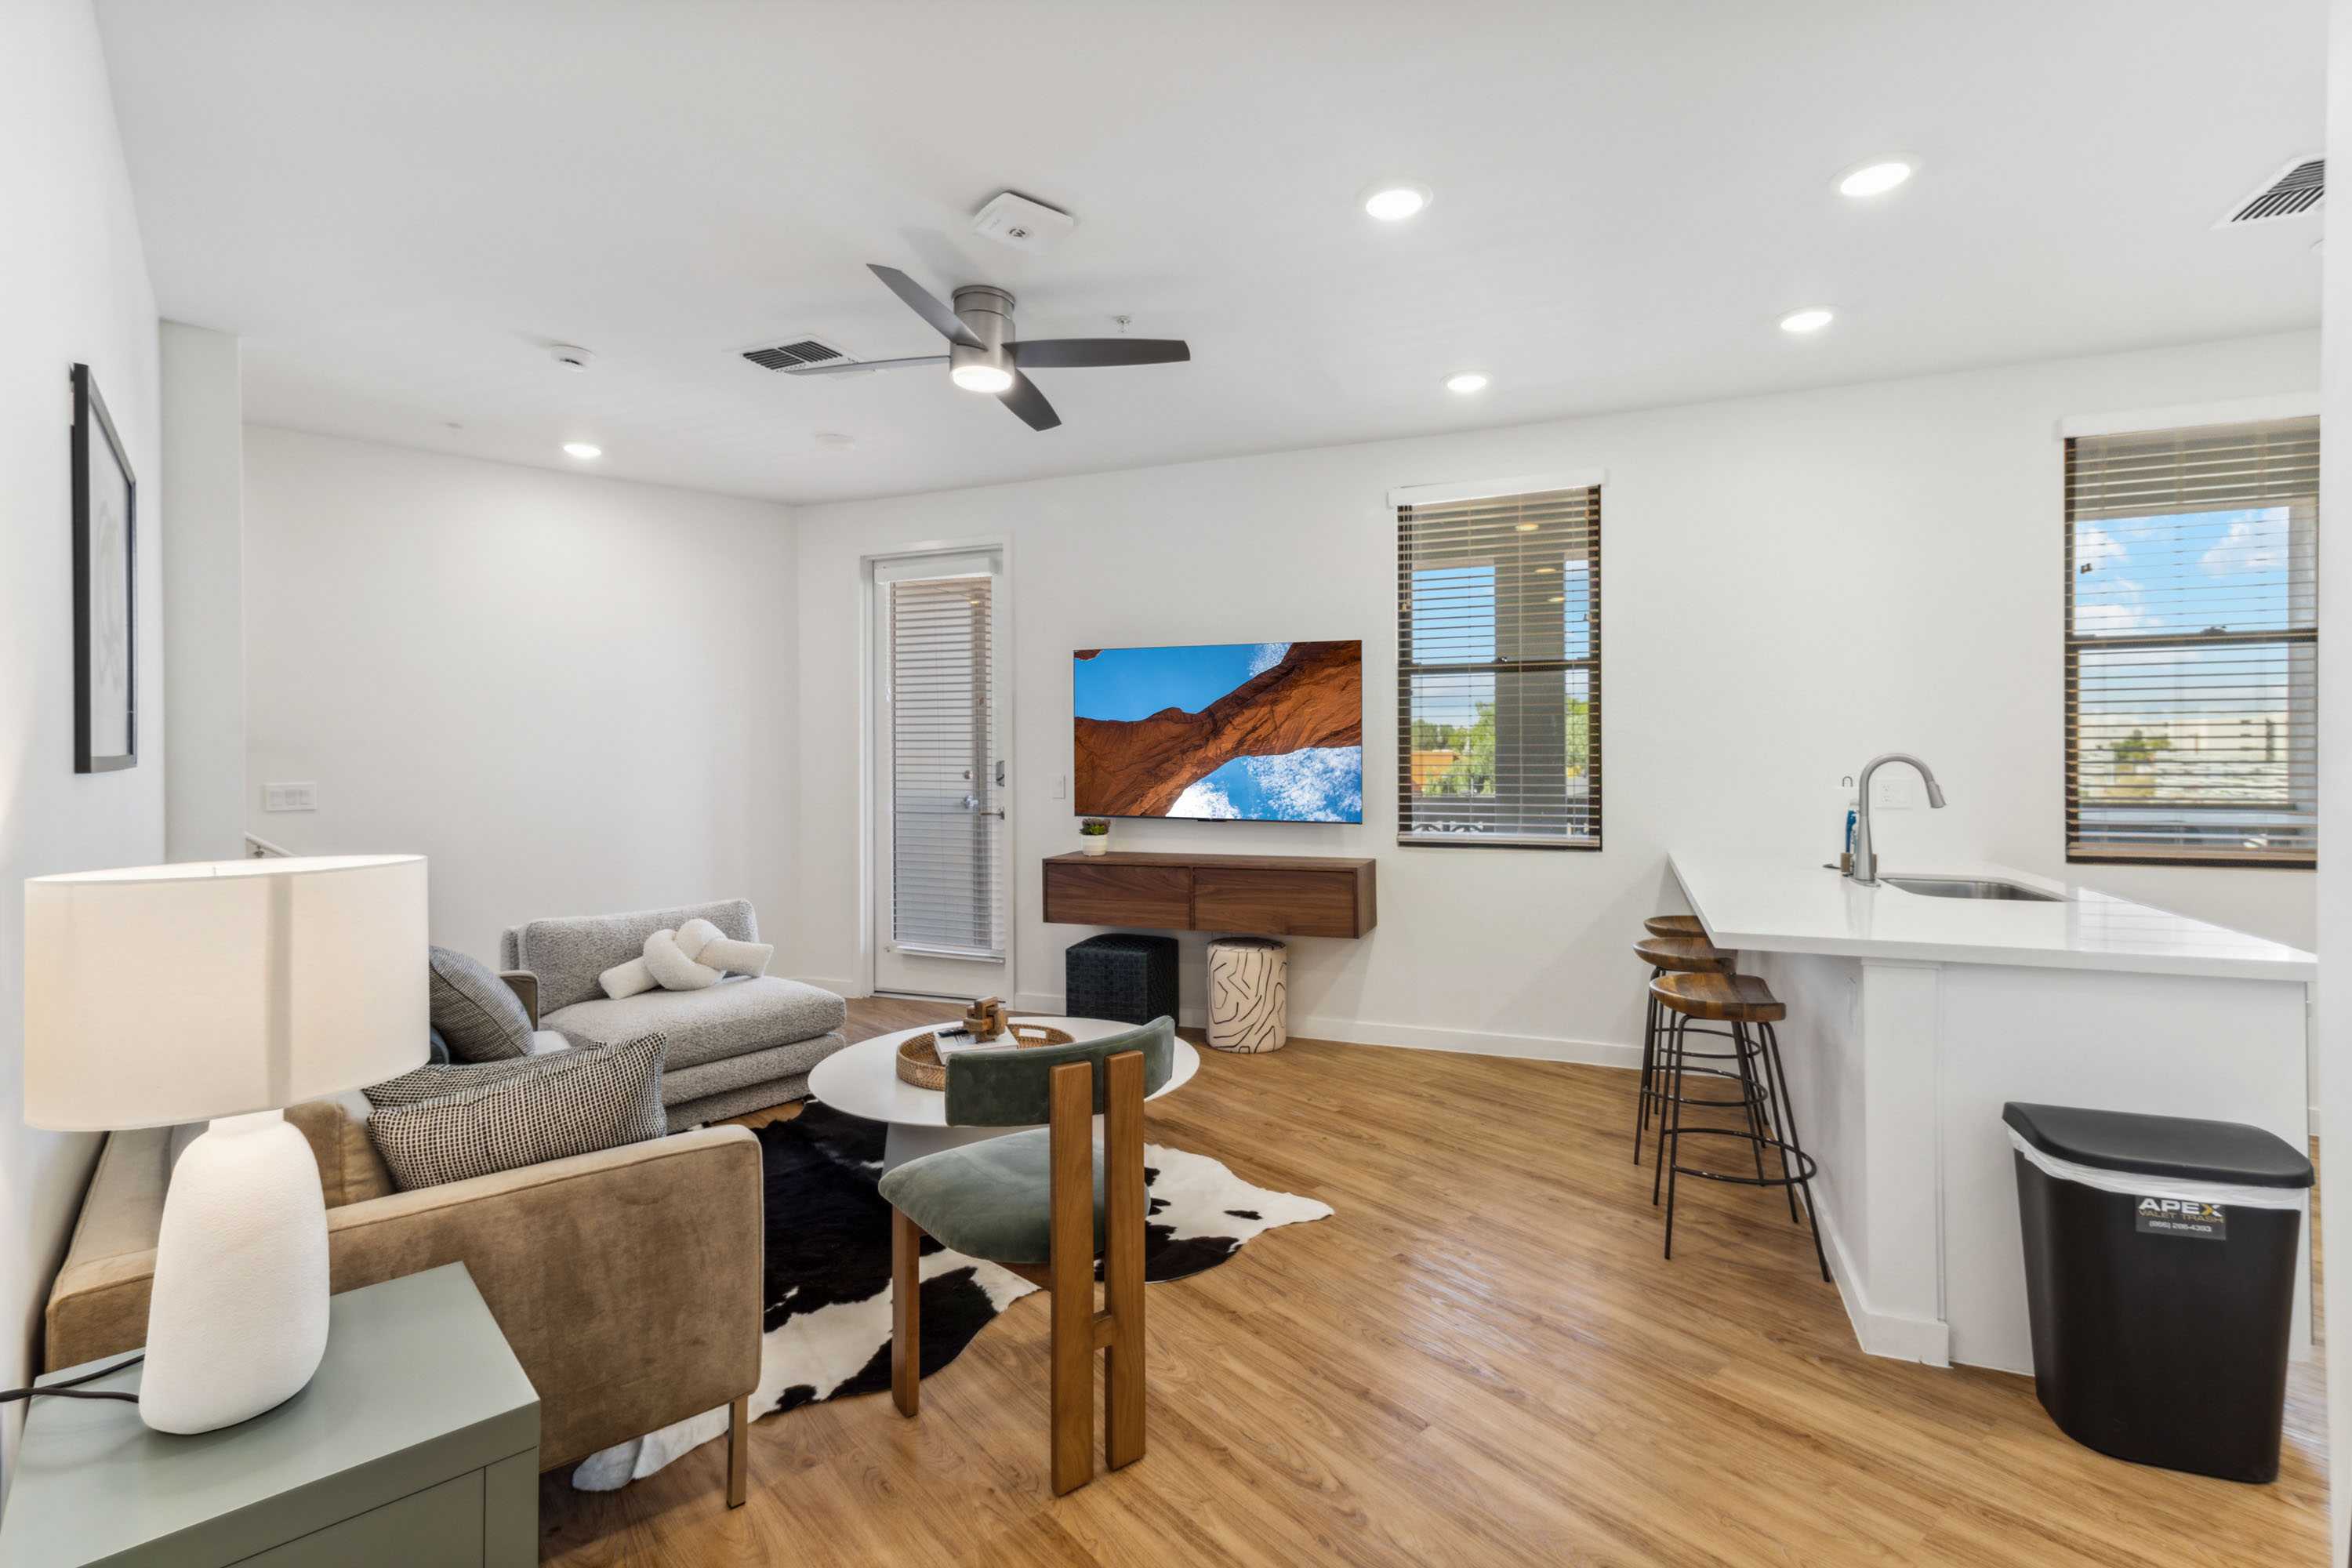
[[[875,564],[875,990],[1011,992],[995,552]]]

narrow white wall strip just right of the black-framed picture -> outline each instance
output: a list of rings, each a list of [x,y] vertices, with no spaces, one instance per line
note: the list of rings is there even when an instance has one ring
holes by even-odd
[[[245,849],[245,409],[238,339],[162,324],[165,856]]]

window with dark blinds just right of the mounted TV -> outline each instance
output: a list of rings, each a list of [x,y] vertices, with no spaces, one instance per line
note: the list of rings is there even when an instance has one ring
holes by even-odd
[[[1599,849],[1599,480],[1392,501],[1397,842]]]

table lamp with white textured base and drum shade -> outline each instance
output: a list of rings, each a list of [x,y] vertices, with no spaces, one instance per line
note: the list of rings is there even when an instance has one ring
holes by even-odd
[[[212,1432],[327,1352],[327,1206],[287,1105],[428,1056],[423,856],[146,865],[24,884],[24,1119],[212,1121],[172,1168],[139,1415]]]

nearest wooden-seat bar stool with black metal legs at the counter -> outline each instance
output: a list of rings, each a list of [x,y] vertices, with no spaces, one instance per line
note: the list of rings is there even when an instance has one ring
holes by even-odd
[[[1804,1222],[1813,1232],[1813,1260],[1830,1279],[1830,1258],[1820,1248],[1820,1220],[1813,1218],[1813,1175],[1820,1166],[1797,1138],[1797,1107],[1788,1098],[1788,1067],[1780,1063],[1780,1037],[1773,1025],[1788,1018],[1788,1006],[1757,976],[1703,971],[1663,973],[1649,983],[1656,1004],[1675,1016],[1665,1032],[1665,1093],[1658,1126],[1658,1166],[1665,1171],[1665,1255],[1675,1255],[1675,1182],[1693,1175],[1743,1187],[1780,1187],[1788,1192],[1788,1218],[1797,1220],[1797,1192],[1804,1190]],[[1748,1126],[1684,1126],[1684,1105],[1705,1105],[1684,1095],[1684,1037],[1693,1018],[1731,1027],[1733,1051],[1745,1093],[1731,1105],[1748,1107]],[[1783,1135],[1783,1128],[1788,1133]],[[1736,1175],[1708,1166],[1682,1164],[1684,1138],[1731,1138],[1755,1154],[1757,1173]],[[1764,1173],[1764,1150],[1773,1150],[1780,1175]]]

